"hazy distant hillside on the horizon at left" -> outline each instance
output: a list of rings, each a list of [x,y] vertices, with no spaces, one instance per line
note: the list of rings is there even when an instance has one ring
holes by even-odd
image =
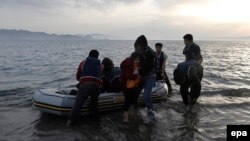
[[[96,40],[91,35],[48,34],[45,32],[31,32],[28,30],[0,29],[0,39],[79,39]]]

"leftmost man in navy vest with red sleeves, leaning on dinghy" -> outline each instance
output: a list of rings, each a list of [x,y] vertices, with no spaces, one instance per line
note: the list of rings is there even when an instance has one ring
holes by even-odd
[[[103,70],[103,65],[98,56],[99,52],[97,50],[91,50],[86,60],[79,64],[76,74],[76,79],[79,81],[79,88],[67,125],[76,120],[80,114],[82,105],[89,96],[91,98],[91,114],[97,116],[98,96],[102,87],[101,73]]]

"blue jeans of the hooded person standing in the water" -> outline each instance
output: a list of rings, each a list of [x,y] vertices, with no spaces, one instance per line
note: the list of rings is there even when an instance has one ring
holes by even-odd
[[[141,79],[141,83],[138,86],[138,95],[139,93],[141,93],[142,89],[144,89],[143,96],[148,111],[153,110],[153,104],[151,101],[151,92],[152,92],[152,87],[154,85],[154,80],[155,80],[154,76],[144,77]]]

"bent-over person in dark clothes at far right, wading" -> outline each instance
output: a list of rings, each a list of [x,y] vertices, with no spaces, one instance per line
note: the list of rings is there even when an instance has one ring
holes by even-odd
[[[177,85],[180,85],[182,100],[187,106],[187,110],[192,110],[200,96],[202,77],[203,67],[196,60],[186,60],[179,63],[174,70],[174,81]]]

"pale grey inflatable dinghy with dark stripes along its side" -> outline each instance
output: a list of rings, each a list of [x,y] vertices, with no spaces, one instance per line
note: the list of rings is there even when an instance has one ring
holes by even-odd
[[[69,115],[75,103],[76,95],[71,95],[71,88],[65,89],[40,89],[34,92],[32,103],[41,112],[55,115]],[[155,82],[151,98],[158,102],[166,98],[168,88],[166,83]],[[122,92],[101,93],[98,98],[98,111],[121,109],[124,103]],[[139,96],[139,103],[144,103],[143,92]],[[86,100],[81,109],[81,115],[89,113],[90,98]]]

